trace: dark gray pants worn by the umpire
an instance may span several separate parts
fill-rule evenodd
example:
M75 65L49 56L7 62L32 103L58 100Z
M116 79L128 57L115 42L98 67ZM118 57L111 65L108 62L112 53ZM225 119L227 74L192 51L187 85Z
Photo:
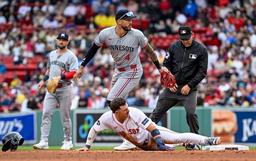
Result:
M162 119L164 114L181 102L186 110L186 119L191 133L199 134L198 117L196 114L196 100L197 100L197 85L191 88L188 95L180 93L182 85L178 85L177 92L172 93L169 88L165 88L159 95L156 108L153 110L149 118L156 124Z

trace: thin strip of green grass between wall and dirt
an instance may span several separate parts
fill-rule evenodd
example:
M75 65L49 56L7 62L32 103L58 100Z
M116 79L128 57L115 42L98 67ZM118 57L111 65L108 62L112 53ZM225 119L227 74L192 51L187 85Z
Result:
M78 148L82 148L82 147L78 147L78 146L74 146L72 148L72 150L74 149L78 149ZM0 149L2 149L2 146L0 146ZM114 146L92 146L90 148L90 150L113 150L114 149ZM175 150L185 150L184 147L176 147L174 148ZM256 149L256 146L249 146L249 149ZM28 146L28 145L25 145L25 146L19 146L18 147L18 150L34 150L32 145L31 146ZM60 150L60 146L49 146L49 150Z

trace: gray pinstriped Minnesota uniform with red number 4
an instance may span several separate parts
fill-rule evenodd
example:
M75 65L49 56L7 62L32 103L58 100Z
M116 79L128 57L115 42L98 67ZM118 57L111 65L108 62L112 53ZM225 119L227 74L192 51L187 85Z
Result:
M116 64L108 101L118 96L124 97L139 84L143 71L138 48L145 47L148 43L148 39L140 30L132 28L120 38L116 35L116 27L102 30L94 41L97 46L106 43Z

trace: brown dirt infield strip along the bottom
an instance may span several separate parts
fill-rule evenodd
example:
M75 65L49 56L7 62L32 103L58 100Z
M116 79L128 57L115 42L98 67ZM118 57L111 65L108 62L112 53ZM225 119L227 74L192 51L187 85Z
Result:
M50 160L50 161L254 161L256 150L174 150L174 151L64 151L64 150L18 150L0 152L1 161Z

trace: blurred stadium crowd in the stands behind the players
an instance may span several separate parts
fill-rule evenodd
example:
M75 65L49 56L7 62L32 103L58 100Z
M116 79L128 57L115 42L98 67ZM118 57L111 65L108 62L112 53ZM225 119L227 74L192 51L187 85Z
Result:
M120 9L138 16L132 26L145 34L160 63L178 40L180 25L192 26L194 39L209 53L197 105L256 107L255 0L0 0L0 112L42 109L46 88L38 90L37 83L58 32L69 34L68 49L80 65L98 33L116 25ZM139 53L144 74L126 100L130 106L155 108L163 90L160 76L146 53ZM114 69L103 46L75 83L71 109L106 107Z

